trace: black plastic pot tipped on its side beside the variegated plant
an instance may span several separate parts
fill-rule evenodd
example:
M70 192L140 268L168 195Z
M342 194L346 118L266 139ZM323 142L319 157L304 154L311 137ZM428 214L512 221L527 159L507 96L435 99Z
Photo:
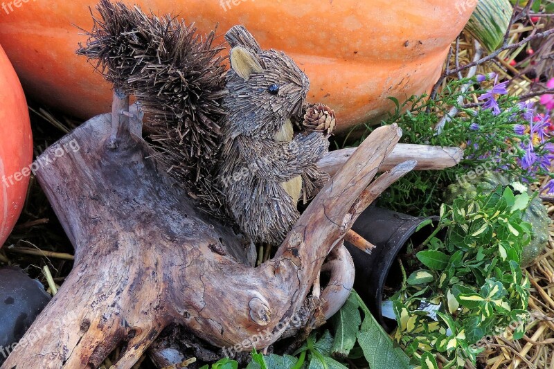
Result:
M397 290L402 284L402 272L396 262L397 255L413 244L425 241L433 231L431 225L416 229L427 219L436 217L411 217L392 210L370 206L360 215L352 229L376 246L368 255L345 242L356 268L354 288L368 305L373 316L391 332L396 322L382 315L384 287Z

